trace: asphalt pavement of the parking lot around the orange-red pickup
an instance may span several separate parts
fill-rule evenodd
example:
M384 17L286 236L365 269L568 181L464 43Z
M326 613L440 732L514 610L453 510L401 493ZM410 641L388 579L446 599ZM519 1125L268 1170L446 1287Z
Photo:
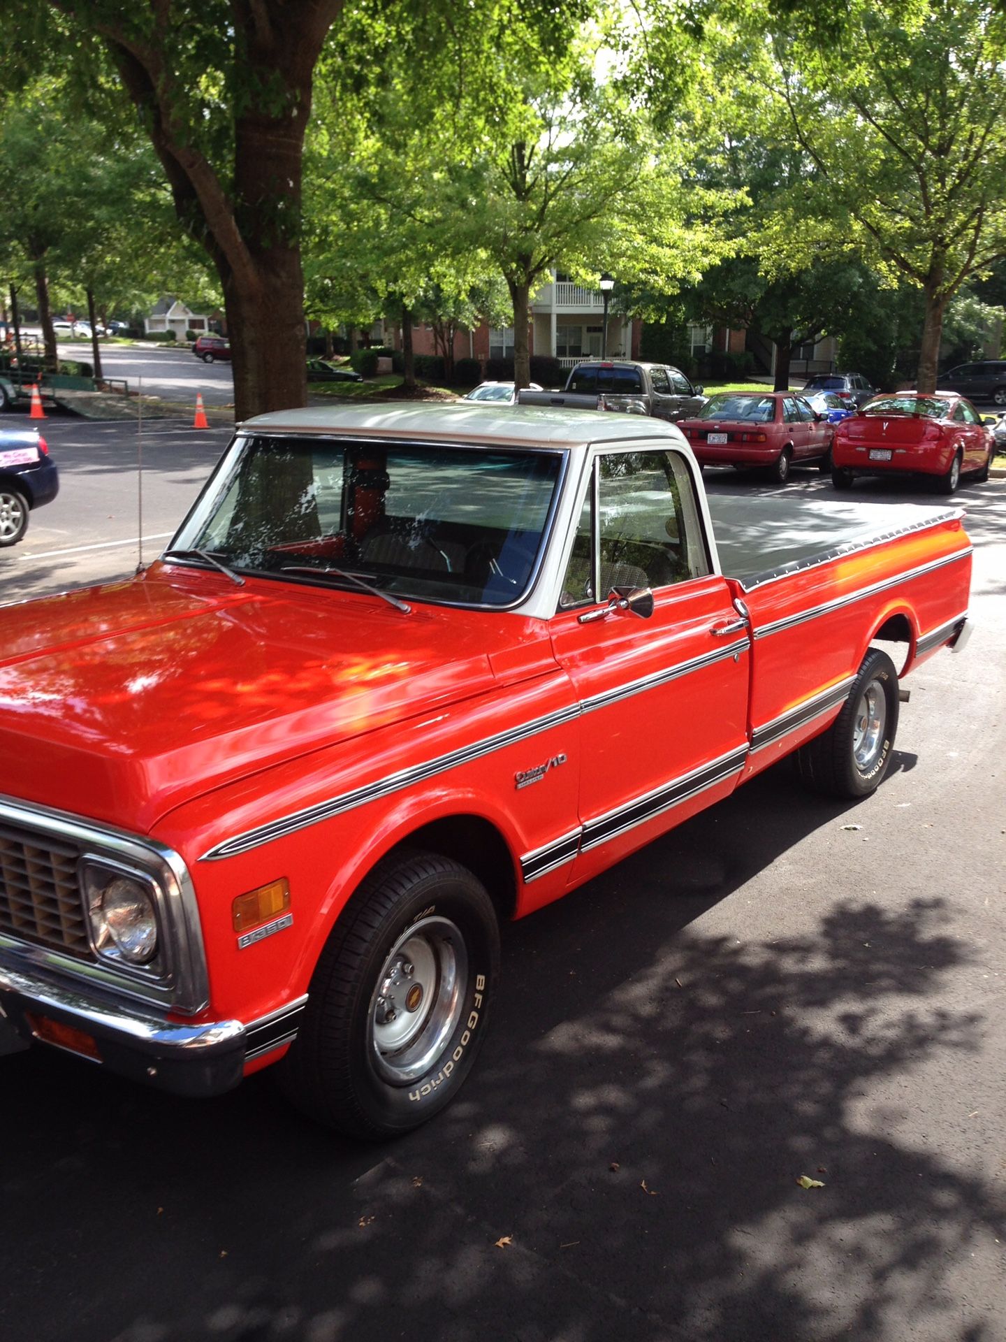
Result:
M130 530L129 443L50 432L63 494L4 597L11 565L19 590L80 576L50 525ZM152 527L215 446L150 447ZM268 1076L197 1103L5 1059L4 1342L1001 1342L1006 482L959 502L974 636L907 678L877 794L783 764L508 929L476 1072L428 1127L361 1147Z

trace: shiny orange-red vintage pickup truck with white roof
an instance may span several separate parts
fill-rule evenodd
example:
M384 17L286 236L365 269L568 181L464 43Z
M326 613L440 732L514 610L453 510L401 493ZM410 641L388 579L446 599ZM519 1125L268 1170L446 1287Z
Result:
M872 644L960 644L960 513L718 511L641 416L241 425L146 572L0 609L0 1049L188 1095L279 1064L401 1133L471 1070L500 922L790 752L872 792Z

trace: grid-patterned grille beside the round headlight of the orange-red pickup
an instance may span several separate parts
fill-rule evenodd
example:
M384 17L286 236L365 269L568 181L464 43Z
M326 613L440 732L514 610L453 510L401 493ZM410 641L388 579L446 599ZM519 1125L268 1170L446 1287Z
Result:
M0 933L90 956L76 863L80 849L0 824Z

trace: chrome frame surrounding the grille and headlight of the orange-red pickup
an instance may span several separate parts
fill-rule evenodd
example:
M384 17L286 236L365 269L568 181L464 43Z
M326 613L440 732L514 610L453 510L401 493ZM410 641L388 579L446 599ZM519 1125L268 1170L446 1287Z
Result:
M196 891L181 856L156 839L131 835L114 825L85 820L50 807L0 796L0 820L42 836L78 844L90 856L117 859L135 867L156 884L160 934L165 939L166 973L144 974L141 969L79 960L15 937L0 935L4 964L46 966L101 985L123 996L194 1015L209 1000L207 958ZM83 898L83 896L82 896Z

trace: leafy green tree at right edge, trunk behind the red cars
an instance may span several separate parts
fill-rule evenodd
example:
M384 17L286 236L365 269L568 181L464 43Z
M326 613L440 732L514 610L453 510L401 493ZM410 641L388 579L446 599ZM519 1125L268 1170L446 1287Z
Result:
M926 301L916 385L936 385L947 306L1006 256L1006 17L982 0L853 0L775 21L778 97L828 213Z

